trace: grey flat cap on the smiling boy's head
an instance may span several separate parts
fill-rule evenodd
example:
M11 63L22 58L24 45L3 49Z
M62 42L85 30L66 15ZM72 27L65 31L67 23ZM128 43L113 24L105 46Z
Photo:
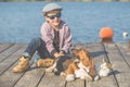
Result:
M62 10L62 7L60 7L56 3L49 3L49 4L43 7L42 13L46 14L46 13L53 11L53 10Z

